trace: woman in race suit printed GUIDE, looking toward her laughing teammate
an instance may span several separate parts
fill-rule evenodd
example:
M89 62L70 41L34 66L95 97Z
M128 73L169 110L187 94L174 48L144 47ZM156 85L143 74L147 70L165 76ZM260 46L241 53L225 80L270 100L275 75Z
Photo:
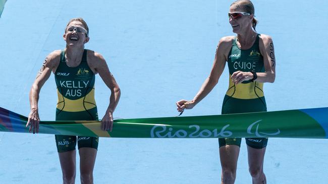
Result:
M240 0L230 6L229 23L237 36L223 37L218 43L212 70L191 101L177 102L178 111L192 109L218 82L226 63L229 87L224 97L222 114L266 111L263 83L274 82L276 60L270 36L258 34L251 1ZM241 122L242 123L242 122ZM266 183L263 159L267 138L246 138L249 172L253 183ZM234 183L240 138L219 138L222 183Z

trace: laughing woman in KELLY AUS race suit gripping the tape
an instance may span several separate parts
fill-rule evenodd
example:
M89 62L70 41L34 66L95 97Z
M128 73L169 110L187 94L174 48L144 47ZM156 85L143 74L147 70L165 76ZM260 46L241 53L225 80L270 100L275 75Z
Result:
M95 74L99 73L111 90L110 104L101 120L102 131L113 129L113 112L120 99L120 88L111 74L106 61L97 52L84 49L89 41L89 28L82 18L72 19L65 28L66 48L55 50L44 60L30 90L31 112L26 126L38 133L39 92L51 71L57 85L58 104L56 120L98 120L94 100ZM104 132L104 134L107 132ZM93 167L97 154L98 137L55 135L63 172L63 183L75 183L76 144L80 155L81 183L93 183Z

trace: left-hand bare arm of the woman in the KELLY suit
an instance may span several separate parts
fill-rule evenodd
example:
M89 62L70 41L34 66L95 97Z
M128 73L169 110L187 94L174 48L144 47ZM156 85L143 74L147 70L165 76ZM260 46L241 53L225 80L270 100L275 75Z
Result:
M29 127L29 132L33 130L34 133L39 132L39 113L38 113L38 100L39 100L39 93L41 87L43 86L44 82L49 78L51 74L51 70L56 65L56 60L58 60L59 54L58 51L54 51L50 53L43 61L43 64L36 75L36 79L34 80L31 90L30 90L30 107L31 112L28 116L28 122L26 127Z

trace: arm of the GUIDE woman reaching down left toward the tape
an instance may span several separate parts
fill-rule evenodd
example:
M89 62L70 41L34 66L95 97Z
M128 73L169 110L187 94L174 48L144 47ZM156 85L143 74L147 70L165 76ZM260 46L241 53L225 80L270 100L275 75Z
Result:
M184 109L192 109L196 104L198 104L203 98L205 98L210 91L214 88L217 84L218 79L220 78L223 70L225 69L226 65L226 51L227 48L231 45L231 38L224 37L220 40L217 45L217 49L215 52L214 63L212 66L212 70L209 76L205 79L202 86L200 87L198 93L191 101L180 100L176 103L177 109L179 112L183 111Z

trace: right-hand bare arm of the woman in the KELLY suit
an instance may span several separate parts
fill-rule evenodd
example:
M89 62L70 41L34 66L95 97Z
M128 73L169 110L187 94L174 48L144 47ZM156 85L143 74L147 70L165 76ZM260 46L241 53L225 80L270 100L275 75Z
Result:
M121 90L117 84L113 74L108 69L105 59L99 54L94 53L95 57L95 66L94 69L99 73L102 80L105 82L108 88L111 89L110 105L108 105L107 111L104 117L101 119L101 129L104 131L113 130L113 113L116 106L119 103Z

